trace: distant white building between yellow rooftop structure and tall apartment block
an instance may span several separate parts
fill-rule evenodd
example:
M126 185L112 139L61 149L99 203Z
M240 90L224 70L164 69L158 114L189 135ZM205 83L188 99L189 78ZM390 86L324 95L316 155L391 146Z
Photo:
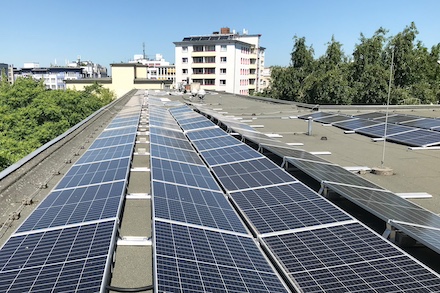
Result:
M147 78L154 80L171 80L173 84L176 82L176 69L174 65L170 65L165 61L161 54L156 54L154 59L148 59L145 55L134 55L129 63L138 63L148 67Z

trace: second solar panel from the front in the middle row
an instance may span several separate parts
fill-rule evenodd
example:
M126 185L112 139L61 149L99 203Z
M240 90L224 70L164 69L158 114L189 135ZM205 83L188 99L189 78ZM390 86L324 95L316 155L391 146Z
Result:
M154 217L247 234L223 193L153 181Z

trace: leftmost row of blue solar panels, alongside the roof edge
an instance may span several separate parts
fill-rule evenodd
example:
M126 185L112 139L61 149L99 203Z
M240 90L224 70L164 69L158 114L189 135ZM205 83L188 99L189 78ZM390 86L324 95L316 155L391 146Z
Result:
M141 105L135 97L0 250L1 292L104 292Z

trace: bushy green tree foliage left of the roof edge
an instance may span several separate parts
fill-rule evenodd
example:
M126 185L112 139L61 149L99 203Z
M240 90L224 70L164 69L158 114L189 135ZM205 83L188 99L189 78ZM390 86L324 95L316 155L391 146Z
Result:
M0 83L0 171L110 103L95 84L84 91L47 90L42 81Z

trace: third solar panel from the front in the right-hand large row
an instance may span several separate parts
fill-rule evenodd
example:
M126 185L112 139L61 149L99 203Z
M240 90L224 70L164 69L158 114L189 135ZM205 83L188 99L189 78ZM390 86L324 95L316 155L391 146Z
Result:
M296 181L267 158L214 166L212 170L229 191Z

